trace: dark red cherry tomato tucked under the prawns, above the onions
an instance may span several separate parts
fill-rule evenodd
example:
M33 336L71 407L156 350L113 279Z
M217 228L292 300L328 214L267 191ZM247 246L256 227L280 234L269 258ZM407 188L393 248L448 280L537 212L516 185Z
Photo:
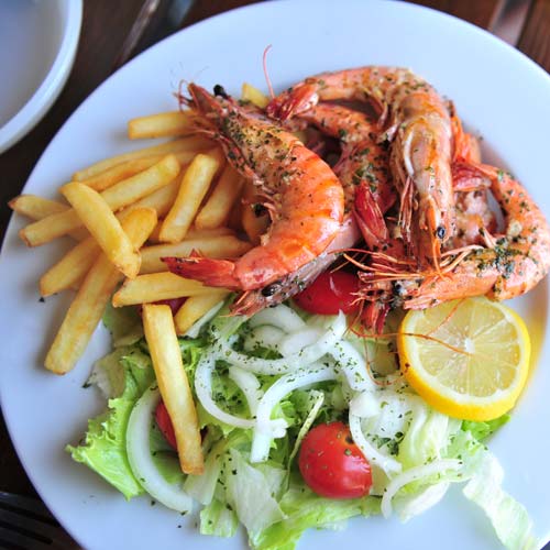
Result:
M306 289L297 294L296 304L310 314L350 314L358 309L353 302L359 290L359 279L351 273L338 271L321 273Z

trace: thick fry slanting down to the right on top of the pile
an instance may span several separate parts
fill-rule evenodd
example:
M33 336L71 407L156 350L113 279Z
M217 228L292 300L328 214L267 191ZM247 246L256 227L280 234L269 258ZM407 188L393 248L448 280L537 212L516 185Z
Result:
M127 277L134 278L140 273L141 256L101 195L78 182L63 186L62 193L107 257Z

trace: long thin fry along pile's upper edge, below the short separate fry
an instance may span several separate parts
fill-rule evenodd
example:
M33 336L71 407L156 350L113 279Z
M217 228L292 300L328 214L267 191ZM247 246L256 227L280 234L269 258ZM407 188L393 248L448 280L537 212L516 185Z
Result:
M205 151L212 146L212 142L207 140L206 138L191 135L189 138L180 138L178 140L173 140L166 143L161 143L160 145L153 145L151 147L140 148L138 151L130 151L129 153L124 153L122 155L112 156L111 158L106 158L105 161L100 161L99 163L92 164L85 169L75 172L73 174L73 179L75 182L81 182L82 179L89 179L101 172L105 172L118 164L122 164L127 161L133 161L135 158L143 158L146 156L155 156L155 155L168 155L176 154L183 152L198 152Z

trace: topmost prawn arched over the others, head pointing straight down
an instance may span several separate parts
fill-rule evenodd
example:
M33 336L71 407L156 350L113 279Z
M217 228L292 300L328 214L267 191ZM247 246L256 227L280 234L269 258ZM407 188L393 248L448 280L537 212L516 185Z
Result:
M392 143L405 242L421 265L437 265L454 231L452 124L446 102L410 70L370 66L307 78L272 100L267 113L285 120L330 100L367 100L377 110L382 139Z

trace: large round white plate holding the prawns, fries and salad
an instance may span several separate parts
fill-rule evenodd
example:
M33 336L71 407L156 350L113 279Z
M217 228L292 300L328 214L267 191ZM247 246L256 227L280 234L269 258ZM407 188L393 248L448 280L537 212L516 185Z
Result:
M127 121L175 107L180 79L239 92L243 80L263 87L262 54L277 89L327 69L366 64L404 65L455 101L460 116L484 138L488 158L506 160L550 212L548 136L550 79L539 67L475 26L411 4L378 1L265 2L199 23L135 58L75 112L51 143L26 193L53 196L69 175L99 158L125 151ZM36 280L61 248L25 250L11 222L0 267L3 334L1 398L15 448L38 493L87 549L240 549L245 539L201 537L194 519L148 498L131 503L64 453L102 402L82 389L92 361L108 350L98 330L77 369L58 378L42 361L68 298L38 302ZM548 282L517 300L534 339L534 373L512 421L491 442L506 470L505 488L525 503L537 535L550 538L550 342ZM538 367L537 365L540 365ZM439 506L406 525L358 518L342 532L308 532L301 549L499 548L482 513L455 488ZM182 528L178 528L182 526ZM355 544L355 546L351 546Z

